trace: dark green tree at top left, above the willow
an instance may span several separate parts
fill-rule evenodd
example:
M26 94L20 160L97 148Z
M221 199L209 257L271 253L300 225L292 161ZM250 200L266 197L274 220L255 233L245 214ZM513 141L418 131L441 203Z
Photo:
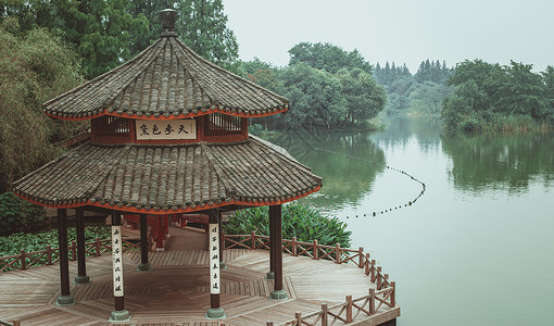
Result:
M3 16L15 16L22 32L46 27L74 45L88 78L116 67L135 53L133 40L148 34L144 15L133 17L129 0L14 0L3 5Z

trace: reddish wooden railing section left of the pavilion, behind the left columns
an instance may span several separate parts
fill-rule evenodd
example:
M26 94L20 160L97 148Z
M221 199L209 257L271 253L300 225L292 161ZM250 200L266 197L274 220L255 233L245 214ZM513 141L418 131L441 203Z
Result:
M151 248L151 239L149 238L149 248ZM140 249L140 241L131 241L123 239L124 250ZM100 256L112 251L112 240L96 238L92 242L85 243L86 255ZM71 261L77 260L77 244L72 241L67 246L67 258ZM7 255L0 258L0 272L8 272L13 269L24 271L35 266L52 265L60 261L60 249L47 247L46 250L25 252L22 250L20 254Z

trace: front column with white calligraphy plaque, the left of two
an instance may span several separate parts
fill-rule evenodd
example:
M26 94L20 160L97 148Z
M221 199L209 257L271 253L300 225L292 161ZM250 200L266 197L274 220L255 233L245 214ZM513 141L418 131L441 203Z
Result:
M125 310L123 292L123 243L122 243L122 214L112 212L112 273L113 273L113 296L114 311L109 322L129 321L129 312Z

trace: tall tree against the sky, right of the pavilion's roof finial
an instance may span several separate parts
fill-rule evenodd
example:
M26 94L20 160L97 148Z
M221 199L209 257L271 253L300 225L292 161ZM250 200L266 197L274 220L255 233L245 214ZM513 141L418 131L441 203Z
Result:
M239 74L239 45L227 28L222 0L181 0L177 11L181 40L204 59Z

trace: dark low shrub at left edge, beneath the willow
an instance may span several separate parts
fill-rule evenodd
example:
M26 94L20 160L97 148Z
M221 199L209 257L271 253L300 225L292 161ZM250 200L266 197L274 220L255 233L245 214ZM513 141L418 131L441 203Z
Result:
M41 206L22 200L13 192L0 193L0 235L38 230L45 221Z

